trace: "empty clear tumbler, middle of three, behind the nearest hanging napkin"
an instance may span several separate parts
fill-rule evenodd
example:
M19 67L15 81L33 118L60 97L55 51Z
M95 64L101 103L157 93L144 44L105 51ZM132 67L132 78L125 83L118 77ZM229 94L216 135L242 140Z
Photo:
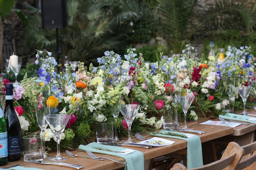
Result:
M96 123L96 138L97 138L97 143L113 142L114 140L113 122Z

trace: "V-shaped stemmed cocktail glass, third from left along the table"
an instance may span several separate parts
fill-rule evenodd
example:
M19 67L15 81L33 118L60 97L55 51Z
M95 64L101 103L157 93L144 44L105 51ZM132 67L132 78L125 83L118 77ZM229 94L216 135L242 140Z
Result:
M191 105L191 103L193 102L195 96L175 96L177 98L177 101L179 102L183 112L184 112L184 115L185 115L185 126L181 129L192 129L192 128L189 128L187 127L187 120L186 120L186 116L187 116L187 111Z

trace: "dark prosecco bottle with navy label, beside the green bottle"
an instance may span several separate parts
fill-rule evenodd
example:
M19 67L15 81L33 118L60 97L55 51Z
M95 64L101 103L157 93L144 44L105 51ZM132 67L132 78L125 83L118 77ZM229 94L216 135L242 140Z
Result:
M13 84L5 85L5 118L8 136L8 161L21 159L21 125L13 107Z

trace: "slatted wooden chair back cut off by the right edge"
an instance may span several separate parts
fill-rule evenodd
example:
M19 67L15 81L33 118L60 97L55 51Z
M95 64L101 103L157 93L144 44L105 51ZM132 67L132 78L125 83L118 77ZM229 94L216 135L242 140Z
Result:
M245 154L243 156L249 155L251 153L253 154L249 158L241 160L235 169L241 170L246 168L246 170L255 170L256 169L256 141L251 144L245 145L242 148L245 151Z

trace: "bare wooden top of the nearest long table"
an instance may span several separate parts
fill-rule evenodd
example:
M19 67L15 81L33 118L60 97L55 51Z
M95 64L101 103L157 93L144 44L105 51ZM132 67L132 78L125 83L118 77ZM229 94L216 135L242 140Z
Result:
M210 141L212 139L230 135L233 133L232 127L225 127L225 126L191 124L191 125L189 125L189 127L192 127L194 130L205 131L205 134L198 135L198 136L200 136L202 143L206 142L206 141ZM142 135L145 137L150 136L149 134L142 134ZM162 155L172 153L172 152L175 152L175 151L178 151L181 149L185 149L187 147L187 142L185 140L174 139L174 138L165 138L165 139L169 139L171 141L174 141L175 143L173 143L172 145L169 145L169 146L153 147L153 148L149 148L149 149L137 148L137 147L127 147L127 146L125 146L125 148L131 148L133 150L138 150L144 154L144 160L150 160L150 159L156 158L158 156L162 156ZM134 139L134 141L138 142L138 139ZM87 155L86 152L79 151L79 150L72 151L72 153ZM51 153L50 155L55 156L56 153L54 152L54 153ZM84 166L83 169L86 169L86 170L95 170L95 169L110 170L110 169L118 169L118 168L124 167L123 164L115 163L115 162L112 162L109 160L96 161L96 160L91 160L89 158L85 158L82 156L77 156L75 158L71 158L65 152L62 152L61 155L68 158L67 161L63 161L63 162L82 165L82 166ZM102 154L97 153L96 155L100 156ZM125 161L123 158L119 158L116 156L110 156L110 155L104 155L104 156L118 160L118 161ZM53 166L53 165L42 165L42 164L33 163L33 162L24 162L23 157L21 158L20 161L8 162L8 164L3 167L10 167L10 166L14 166L17 164L20 164L20 166L23 166L23 167L33 167L33 168L50 169L50 170L58 168L57 166ZM3 168L3 167L0 167L0 168ZM61 169L68 170L70 168L61 167Z

